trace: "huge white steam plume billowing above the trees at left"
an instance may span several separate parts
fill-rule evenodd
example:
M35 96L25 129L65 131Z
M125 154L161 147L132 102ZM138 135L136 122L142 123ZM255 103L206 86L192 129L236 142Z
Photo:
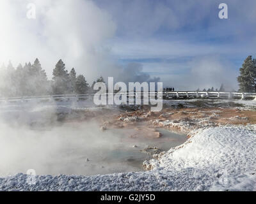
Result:
M36 5L35 20L26 17L28 3ZM38 57L49 78L58 59L63 59L88 82L100 75L124 82L159 80L143 73L141 66L116 63L108 46L116 24L93 1L3 0L0 15L0 62L11 59L16 66Z

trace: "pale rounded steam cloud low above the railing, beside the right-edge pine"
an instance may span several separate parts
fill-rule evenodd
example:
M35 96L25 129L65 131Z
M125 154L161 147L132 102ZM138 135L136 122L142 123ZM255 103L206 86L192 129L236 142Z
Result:
M237 89L238 71L233 64L219 55L198 57L186 62L187 69L183 73L165 73L160 75L165 86L179 90L195 91L196 89L219 89L221 84L226 90ZM152 74L153 75L153 74Z

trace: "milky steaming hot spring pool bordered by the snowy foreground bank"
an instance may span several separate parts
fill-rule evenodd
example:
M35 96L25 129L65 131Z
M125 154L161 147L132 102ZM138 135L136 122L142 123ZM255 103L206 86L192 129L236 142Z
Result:
M186 140L186 136L164 129L159 130L161 138L132 138L136 129L101 131L95 122L65 123L43 130L0 126L0 176L29 169L38 175L141 171L143 161L150 157L141 152L145 147L168 150Z

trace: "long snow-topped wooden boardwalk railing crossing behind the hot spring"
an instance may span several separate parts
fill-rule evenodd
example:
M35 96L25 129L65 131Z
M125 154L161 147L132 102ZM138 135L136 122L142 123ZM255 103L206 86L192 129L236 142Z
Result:
M125 94L125 93L123 93ZM143 92L127 93L127 98L134 96L134 98L143 97ZM108 95L108 94L106 94ZM33 101L33 99L40 99L41 101L63 101L67 100L83 100L93 97L94 94L63 94L63 95L48 95L48 96L24 96L19 98L0 98L2 101ZM217 92L217 91L172 91L172 92L149 92L149 97L158 97L163 99L193 99L193 98L204 98L204 99L255 99L256 92Z

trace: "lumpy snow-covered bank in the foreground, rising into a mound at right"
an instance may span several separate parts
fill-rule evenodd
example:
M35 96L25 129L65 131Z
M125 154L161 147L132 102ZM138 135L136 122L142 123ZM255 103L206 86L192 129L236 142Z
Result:
M256 126L198 130L159 160L153 170L111 175L0 178L4 191L256 191Z

